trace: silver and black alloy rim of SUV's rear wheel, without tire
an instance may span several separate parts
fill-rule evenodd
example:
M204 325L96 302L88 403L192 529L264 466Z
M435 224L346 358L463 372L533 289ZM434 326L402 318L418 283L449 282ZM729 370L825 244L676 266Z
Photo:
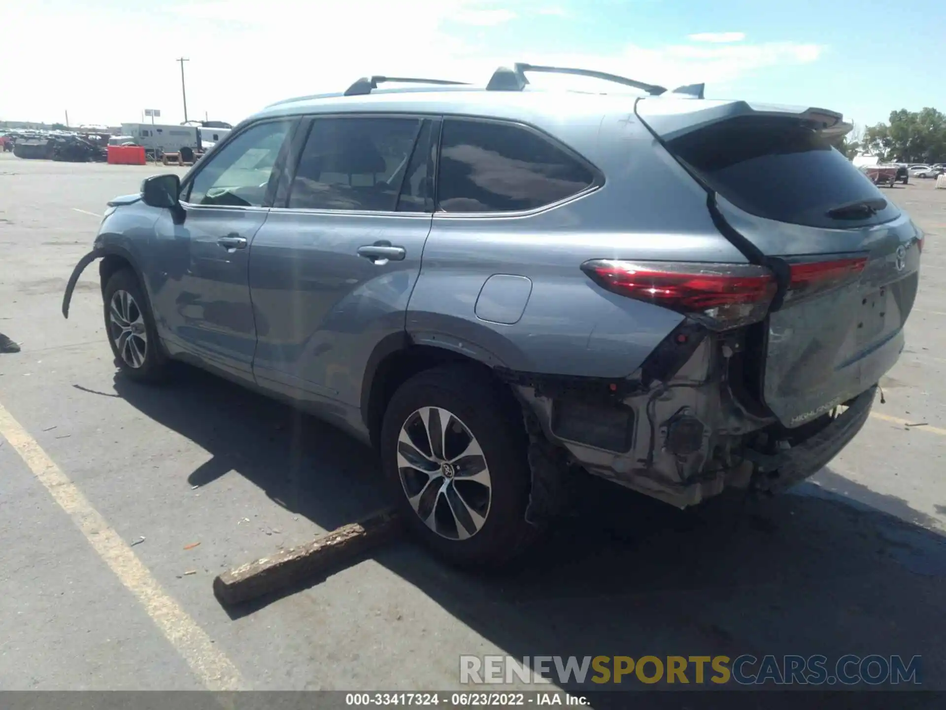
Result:
M430 530L467 540L489 516L492 482L480 443L440 407L415 411L401 427L397 469L413 511Z

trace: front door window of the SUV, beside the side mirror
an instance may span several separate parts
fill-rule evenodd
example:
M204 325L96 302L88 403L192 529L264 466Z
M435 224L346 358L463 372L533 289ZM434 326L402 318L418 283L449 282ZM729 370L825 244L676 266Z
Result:
M236 136L194 178L187 202L261 206L290 121L258 123Z

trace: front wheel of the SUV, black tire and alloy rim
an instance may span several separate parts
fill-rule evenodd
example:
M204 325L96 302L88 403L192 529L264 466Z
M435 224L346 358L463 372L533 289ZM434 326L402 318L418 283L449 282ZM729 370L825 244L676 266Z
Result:
M138 277L130 269L115 272L102 296L105 331L115 365L130 380L160 382L166 375L167 360Z

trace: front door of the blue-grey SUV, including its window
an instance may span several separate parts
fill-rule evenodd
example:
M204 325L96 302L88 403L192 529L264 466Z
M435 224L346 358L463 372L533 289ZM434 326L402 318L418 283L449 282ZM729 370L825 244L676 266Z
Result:
M267 121L236 135L184 185L184 219L167 212L156 225L166 276L156 311L166 340L246 379L253 378L256 345L250 245L266 222L290 126Z

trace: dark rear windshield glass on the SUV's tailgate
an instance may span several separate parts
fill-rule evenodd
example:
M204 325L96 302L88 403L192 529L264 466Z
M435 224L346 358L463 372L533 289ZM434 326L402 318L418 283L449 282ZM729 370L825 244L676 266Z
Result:
M741 116L674 138L668 148L729 202L770 220L843 228L900 214L887 201L867 218L830 216L842 205L884 200L884 193L795 120Z

